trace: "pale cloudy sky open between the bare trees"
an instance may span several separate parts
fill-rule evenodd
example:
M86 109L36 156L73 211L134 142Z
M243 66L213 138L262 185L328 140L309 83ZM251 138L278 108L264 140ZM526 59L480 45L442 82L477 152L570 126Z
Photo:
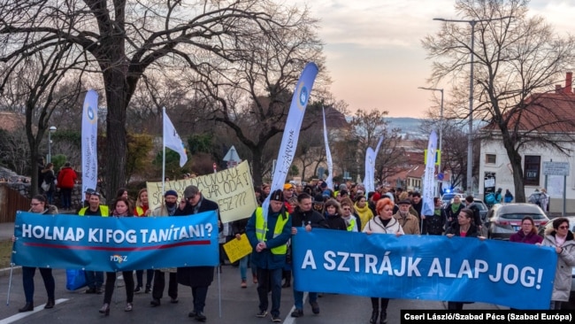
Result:
M338 100L346 101L351 111L378 108L391 117L425 117L433 91L418 87L429 86L432 62L421 40L439 31L441 22L433 18L456 18L455 0L295 3L307 3L321 20L319 35L326 44L331 91ZM532 0L529 6L530 14L544 16L563 35L575 19L575 0Z

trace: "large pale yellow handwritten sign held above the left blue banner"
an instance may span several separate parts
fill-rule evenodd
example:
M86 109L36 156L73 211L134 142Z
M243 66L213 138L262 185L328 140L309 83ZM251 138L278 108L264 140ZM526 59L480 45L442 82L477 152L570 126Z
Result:
M247 219L257 208L256 193L247 161L214 174L167 181L164 190L175 190L181 200L184 189L189 185L196 186L203 197L219 204L219 214L223 223ZM162 182L146 182L146 187L149 208L153 211L164 199Z

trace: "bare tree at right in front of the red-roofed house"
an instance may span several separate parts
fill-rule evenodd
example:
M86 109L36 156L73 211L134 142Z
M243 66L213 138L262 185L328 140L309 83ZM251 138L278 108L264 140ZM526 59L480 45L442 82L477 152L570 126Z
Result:
M533 110L537 104L530 96L553 90L559 75L573 62L575 42L571 36L557 35L543 18L529 18L528 3L456 1L459 18L475 20L473 117L490 124L483 135L502 141L512 167L517 202L525 202L520 151L526 145L543 145L568 153L572 133L558 138L544 130L564 132L575 126L560 117L564 112L549 106ZM437 35L428 35L422 42L429 58L437 59L430 83L451 82L455 107L465 107L469 96L465 84L470 78L471 31L470 24L446 22ZM469 111L459 108L456 115L466 119Z

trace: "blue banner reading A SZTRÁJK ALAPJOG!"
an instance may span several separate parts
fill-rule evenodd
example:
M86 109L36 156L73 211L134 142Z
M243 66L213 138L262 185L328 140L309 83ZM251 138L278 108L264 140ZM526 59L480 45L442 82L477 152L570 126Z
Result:
M525 243L314 228L292 238L295 289L548 309L557 256Z

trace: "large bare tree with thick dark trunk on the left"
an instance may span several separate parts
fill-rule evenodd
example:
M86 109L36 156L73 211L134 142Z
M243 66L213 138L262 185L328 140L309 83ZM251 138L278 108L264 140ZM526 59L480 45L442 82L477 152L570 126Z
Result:
M106 135L113 139L105 154L111 197L125 183L126 109L144 73L188 68L208 75L219 69L210 58L237 61L246 55L242 44L299 30L296 16L268 0L6 0L0 4L0 62L61 44L92 61L88 70L101 73Z

